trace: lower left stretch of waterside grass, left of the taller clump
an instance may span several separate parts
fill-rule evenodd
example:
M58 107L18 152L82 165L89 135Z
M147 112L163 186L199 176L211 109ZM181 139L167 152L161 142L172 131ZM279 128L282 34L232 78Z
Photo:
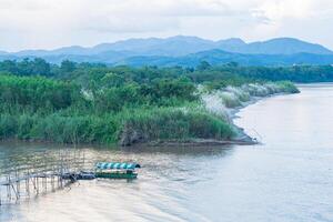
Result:
M112 143L115 138L114 118L82 115L62 117L1 114L0 138L58 143Z

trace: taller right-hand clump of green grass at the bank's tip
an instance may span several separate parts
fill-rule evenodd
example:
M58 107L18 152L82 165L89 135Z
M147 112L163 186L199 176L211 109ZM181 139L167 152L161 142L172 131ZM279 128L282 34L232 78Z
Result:
M202 109L153 108L127 112L123 117L121 142L137 140L225 140L234 131L223 119Z

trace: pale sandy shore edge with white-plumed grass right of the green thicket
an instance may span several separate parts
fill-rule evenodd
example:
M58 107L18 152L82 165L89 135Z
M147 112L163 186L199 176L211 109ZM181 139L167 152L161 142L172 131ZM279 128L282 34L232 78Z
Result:
M236 113L259 100L281 94L300 93L300 90L291 82L250 83L241 87L226 87L202 95L208 110L223 115L235 130L236 135L230 141L209 141L209 144L258 144L256 138L249 137L244 129L234 124ZM202 141L205 143L205 141ZM200 142L199 142L200 143Z

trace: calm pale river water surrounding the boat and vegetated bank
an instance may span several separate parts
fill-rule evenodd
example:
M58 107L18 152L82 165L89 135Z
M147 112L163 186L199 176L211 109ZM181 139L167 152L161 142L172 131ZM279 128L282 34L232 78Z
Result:
M0 221L333 221L333 85L300 88L240 111L236 124L263 144L84 148L93 160L141 163L139 179L82 181L3 205ZM2 143L0 159L59 149Z

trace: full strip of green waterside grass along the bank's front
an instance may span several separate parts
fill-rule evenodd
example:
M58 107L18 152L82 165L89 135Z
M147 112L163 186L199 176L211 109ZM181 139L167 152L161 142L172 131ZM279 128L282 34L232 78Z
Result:
M232 127L223 119L204 110L181 108L153 107L102 117L0 115L1 139L129 145L152 140L222 140L233 134Z

